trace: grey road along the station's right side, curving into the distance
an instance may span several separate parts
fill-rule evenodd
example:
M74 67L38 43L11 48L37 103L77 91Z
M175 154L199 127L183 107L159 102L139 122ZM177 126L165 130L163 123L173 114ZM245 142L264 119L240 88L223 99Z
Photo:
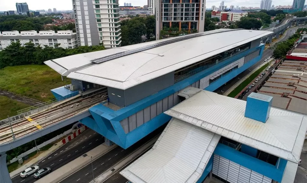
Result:
M289 28L285 33L284 36L280 39L278 39L277 41L275 41L274 43L271 44L271 46L273 46L274 44L281 42L281 41L285 41L286 39L288 39L291 35L293 35L295 33L295 31L298 28L302 28L302 27L306 27L306 26L299 26L299 27L293 27L293 28ZM292 30L292 31L291 31ZM286 34L286 35L285 35ZM214 92L223 95L224 92L226 92L227 90L229 90L233 85L235 85L237 82L239 82L239 80L241 80L241 78L245 77L247 74L249 74L252 70L256 69L257 67L259 67L260 64L262 64L264 62L264 59L268 58L269 56L271 56L273 54L274 49L266 49L263 51L262 54L262 58L259 62L257 62L256 64L254 64L253 66L251 66L249 69L243 71L241 74L239 74L237 77L233 78L232 80L228 81L226 84L224 84L223 86L221 86L220 88L216 89Z

